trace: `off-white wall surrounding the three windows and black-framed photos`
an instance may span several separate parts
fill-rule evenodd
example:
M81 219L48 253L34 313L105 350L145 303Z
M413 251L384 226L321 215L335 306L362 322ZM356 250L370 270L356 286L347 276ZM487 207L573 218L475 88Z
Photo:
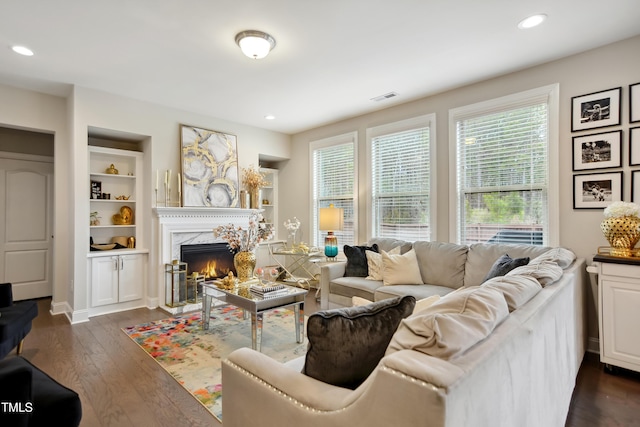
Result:
M360 165L360 183L365 183L365 137L368 127L390 123L422 114L436 114L436 181L437 181L437 218L435 240L449 241L450 221L455 215L449 210L449 110L488 99L498 98L528 89L560 84L560 129L559 129L559 193L560 193L560 245L570 248L579 257L591 262L599 246L607 241L600 232L602 210L573 209L572 171L572 133L571 133L571 97L589 94L600 90L622 86L622 125L612 130L622 129L624 136L623 165L617 170L624 171L624 200L631 200L631 168L629 162L628 128L629 85L640 81L640 37L614 43L579 55L559 59L554 62L508 74L502 77L479 82L445 93L426 97L417 101L390 107L375 113L366 114L339 123L322 126L293 135L292 160L280 172L280 217L297 216L302 219L303 232L311 236L308 230L311 223L311 199L309 197L309 150L311 141L328 138L346 132L358 132L358 163ZM638 125L637 123L635 125ZM597 132L599 130L594 130ZM586 134L590 132L581 132ZM597 171L596 171L597 172ZM294 179L295 178L295 179ZM367 189L360 187L358 201L359 224L365 224L365 197ZM301 195L306 194L305 201ZM295 195L295 196L293 196ZM358 241L365 241L366 230L361 227ZM307 237L308 238L308 237ZM585 284L587 286L587 284ZM590 336L597 336L595 304L589 290Z

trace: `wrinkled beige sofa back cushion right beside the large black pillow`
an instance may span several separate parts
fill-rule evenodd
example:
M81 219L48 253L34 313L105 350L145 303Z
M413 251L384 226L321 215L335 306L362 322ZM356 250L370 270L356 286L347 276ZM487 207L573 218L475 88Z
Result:
M480 286L458 289L402 320L385 355L411 349L455 358L486 338L508 315L500 291Z

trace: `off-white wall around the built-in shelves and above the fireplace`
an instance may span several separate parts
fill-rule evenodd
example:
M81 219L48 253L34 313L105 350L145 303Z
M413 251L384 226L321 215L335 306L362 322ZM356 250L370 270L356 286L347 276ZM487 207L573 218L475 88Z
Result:
M261 155L290 157L288 135L192 114L104 92L74 87L68 98L0 85L0 125L54 134L55 217L52 311L72 321L86 320L89 244L88 129L98 127L145 140L145 247L150 250L149 291L157 295L157 223L152 208L156 169L180 171L180 124L231 133L238 138L241 168L258 165ZM72 283L73 289L72 289Z

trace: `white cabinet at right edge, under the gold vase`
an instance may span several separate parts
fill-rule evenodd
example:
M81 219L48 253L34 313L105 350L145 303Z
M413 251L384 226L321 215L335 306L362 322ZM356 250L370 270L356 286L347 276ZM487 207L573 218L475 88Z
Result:
M597 255L600 361L640 372L640 261Z

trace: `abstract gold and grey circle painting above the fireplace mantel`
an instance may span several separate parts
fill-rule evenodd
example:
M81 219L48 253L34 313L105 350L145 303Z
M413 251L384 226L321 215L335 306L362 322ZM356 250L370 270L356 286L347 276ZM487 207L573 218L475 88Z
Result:
M238 207L236 135L180 125L182 206Z

